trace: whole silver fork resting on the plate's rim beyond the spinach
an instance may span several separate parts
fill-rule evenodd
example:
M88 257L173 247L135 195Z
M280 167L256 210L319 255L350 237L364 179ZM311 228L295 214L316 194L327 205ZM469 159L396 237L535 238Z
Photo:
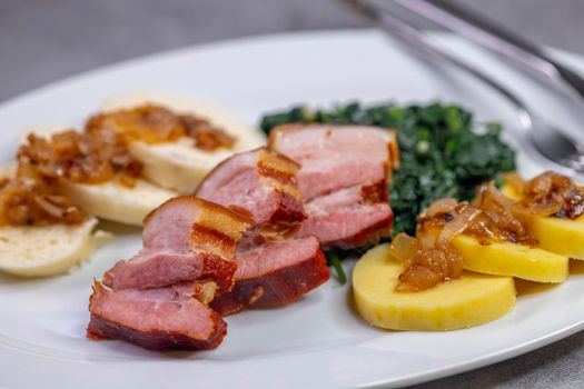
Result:
M396 19L379 6L367 0L342 1L352 6L369 20L375 21L384 31L408 43L408 48L424 53L434 61L442 61L464 70L504 96L516 109L518 121L524 130L526 140L529 142L527 151L531 153L531 157L538 157L531 152L536 150L540 156L545 157L554 166L555 170L584 178L584 176L581 176L584 174L584 147L565 136L543 118L534 114L514 92L477 68L433 46L420 31Z

